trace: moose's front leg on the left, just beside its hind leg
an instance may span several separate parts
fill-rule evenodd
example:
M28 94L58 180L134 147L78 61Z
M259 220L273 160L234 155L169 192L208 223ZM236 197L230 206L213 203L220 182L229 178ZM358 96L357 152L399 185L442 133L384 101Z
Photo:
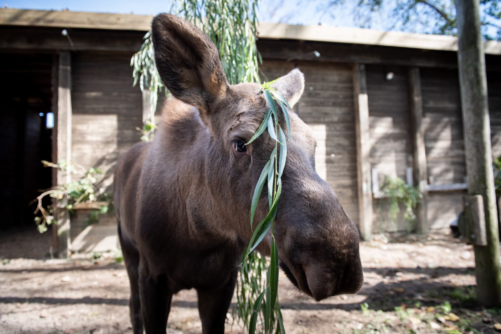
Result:
M146 334L165 333L172 300L166 275L150 275L140 266L139 297Z

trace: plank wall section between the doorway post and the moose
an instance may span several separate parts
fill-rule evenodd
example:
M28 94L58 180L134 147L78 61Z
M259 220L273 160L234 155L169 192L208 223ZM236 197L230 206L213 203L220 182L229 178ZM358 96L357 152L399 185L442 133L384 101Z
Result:
M142 94L132 87L127 53L76 53L73 57L73 159L105 173L112 182L114 166L139 141Z

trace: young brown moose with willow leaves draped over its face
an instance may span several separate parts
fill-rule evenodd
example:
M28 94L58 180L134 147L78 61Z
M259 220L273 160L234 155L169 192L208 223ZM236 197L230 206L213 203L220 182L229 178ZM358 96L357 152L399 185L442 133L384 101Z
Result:
M267 105L258 84L228 85L216 48L189 23L158 15L152 37L158 71L174 98L164 106L154 141L134 145L115 172L133 329L164 333L172 294L195 288L203 333L223 333L241 254L252 236L254 187L274 147L268 135L244 143ZM294 70L273 87L293 106L304 76ZM312 131L289 115L292 138L274 233L280 265L316 300L354 293L363 281L358 231L315 172ZM263 199L255 225L267 212ZM258 250L269 255L269 248L265 239Z

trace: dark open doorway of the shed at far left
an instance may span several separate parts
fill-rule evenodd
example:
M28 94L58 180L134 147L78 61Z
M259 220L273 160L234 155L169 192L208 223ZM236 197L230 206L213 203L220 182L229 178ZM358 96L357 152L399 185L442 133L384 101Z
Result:
M52 186L54 107L51 54L1 53L0 175L3 177L0 228L33 224L33 200ZM48 198L47 200L50 201ZM30 204L31 203L31 204Z

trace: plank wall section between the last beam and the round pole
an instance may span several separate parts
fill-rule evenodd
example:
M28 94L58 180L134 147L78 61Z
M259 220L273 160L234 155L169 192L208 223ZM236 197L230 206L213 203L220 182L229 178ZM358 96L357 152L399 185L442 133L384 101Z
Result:
M423 124L428 183L464 183L461 97L456 69L421 69ZM431 229L446 228L462 211L464 191L430 192L428 222Z

